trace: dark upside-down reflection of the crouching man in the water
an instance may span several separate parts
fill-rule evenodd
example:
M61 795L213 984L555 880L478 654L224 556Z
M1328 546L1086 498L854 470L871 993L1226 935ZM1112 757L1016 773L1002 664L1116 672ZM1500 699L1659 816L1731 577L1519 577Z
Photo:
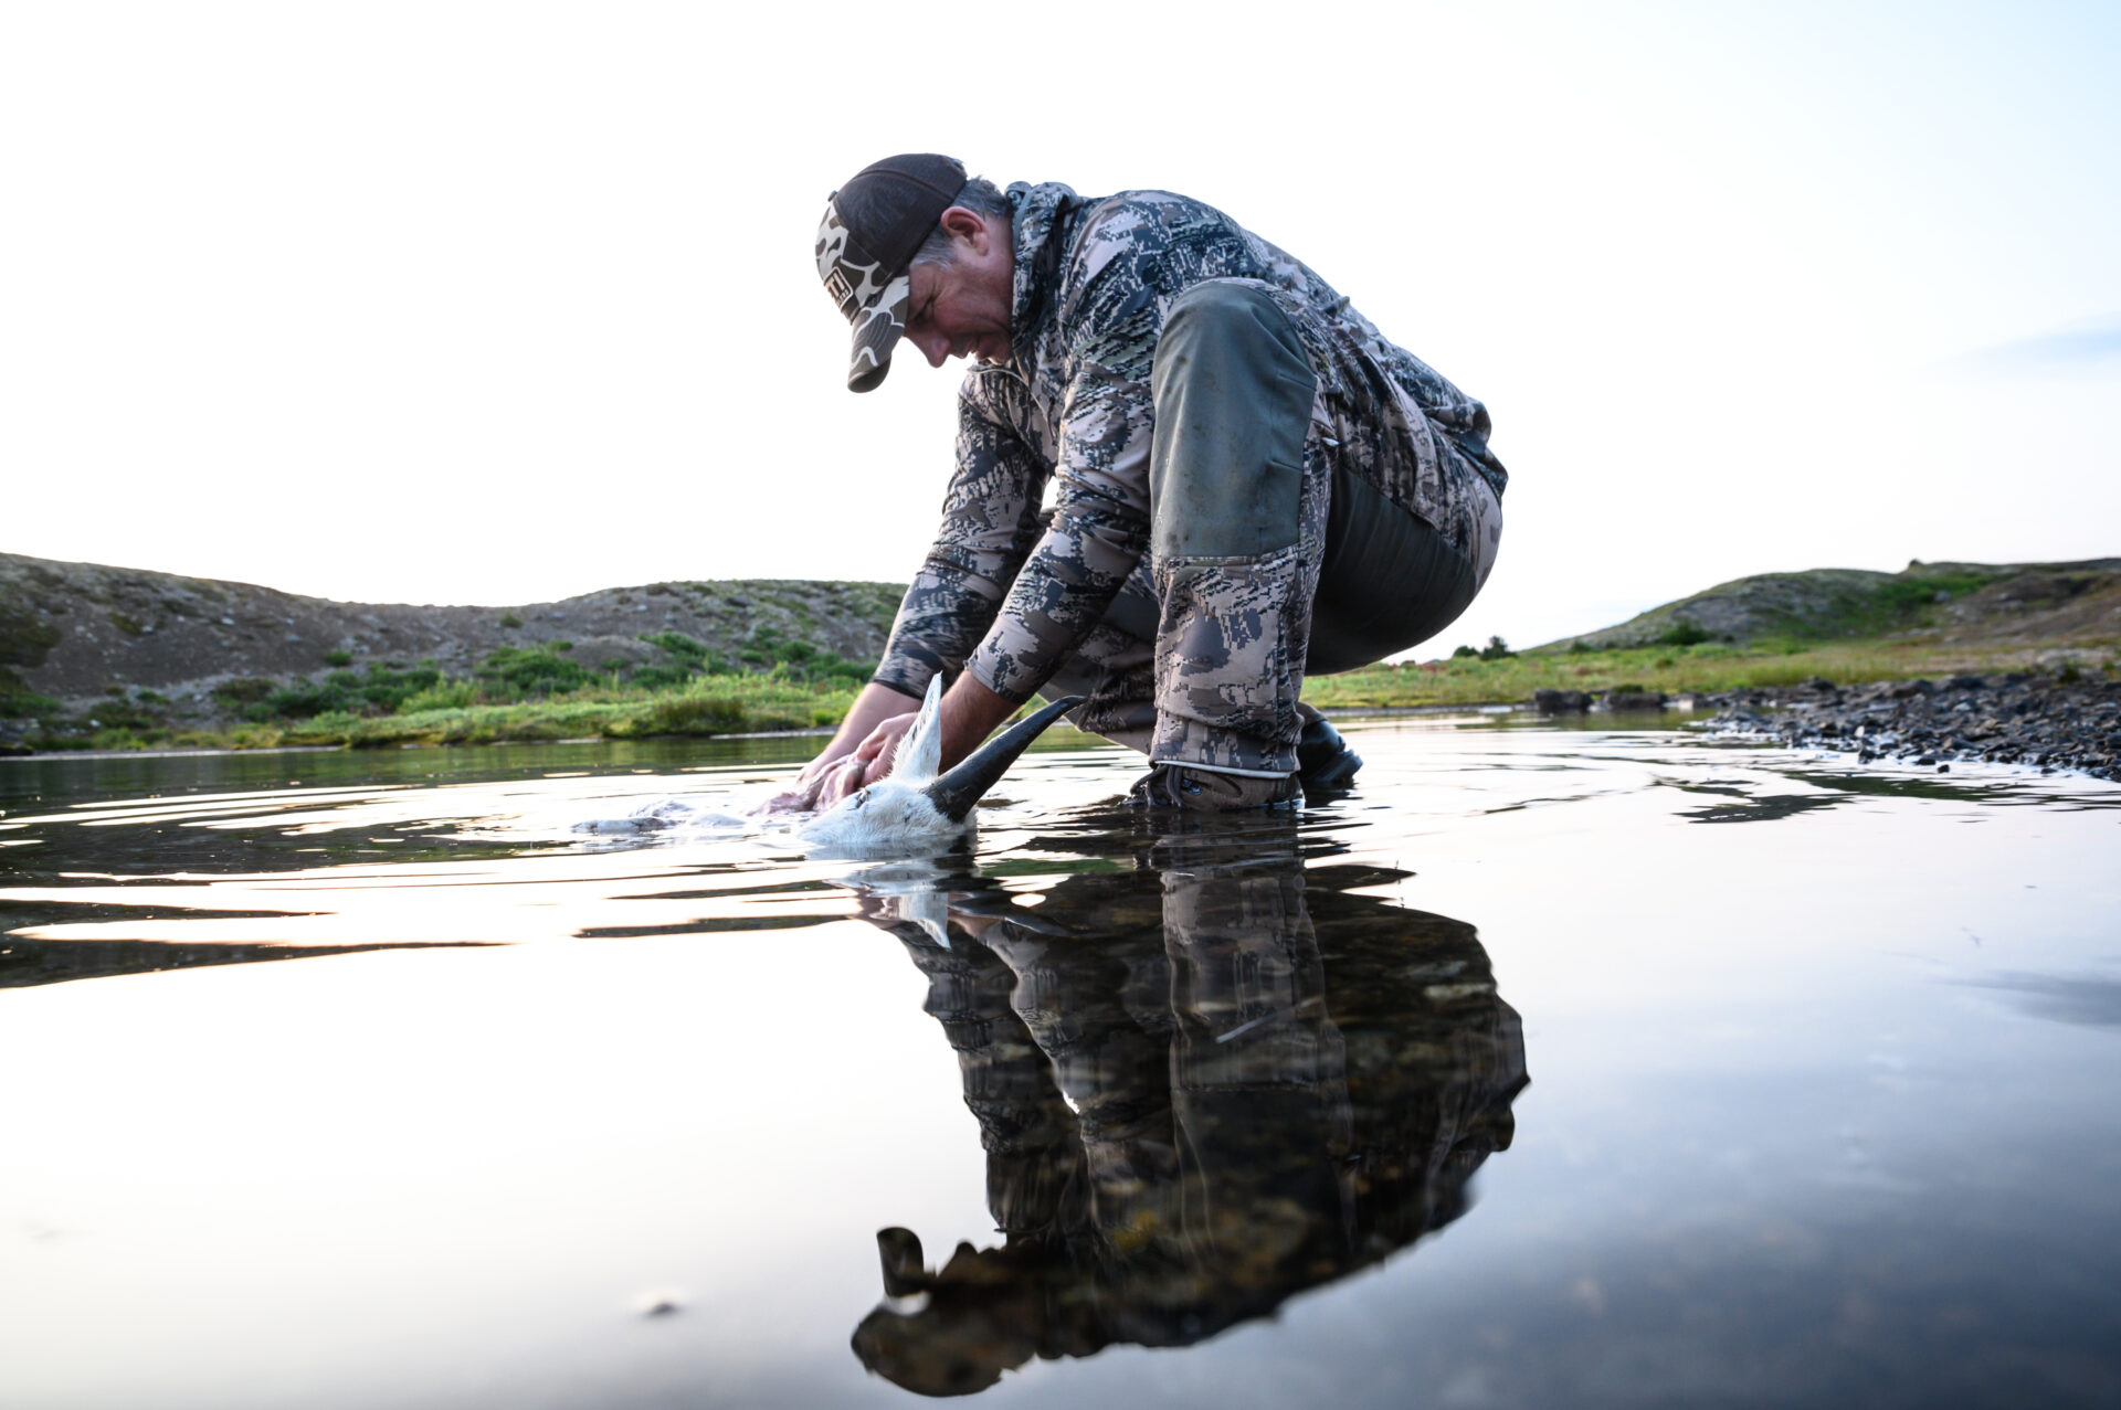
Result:
M1330 888L1391 874L1307 888L1287 831L1184 848L957 910L950 948L874 916L929 975L1005 1240L931 1272L878 1234L870 1370L965 1395L1031 1357L1198 1342L1453 1221L1510 1145L1523 1035L1472 927Z

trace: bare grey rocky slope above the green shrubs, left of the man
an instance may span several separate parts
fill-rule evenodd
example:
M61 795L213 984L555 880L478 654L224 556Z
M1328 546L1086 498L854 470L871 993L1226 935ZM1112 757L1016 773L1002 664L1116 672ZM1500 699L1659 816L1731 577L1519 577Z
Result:
M520 606L303 598L250 583L0 553L0 691L83 700L151 689L197 695L231 678L286 678L369 662L469 674L501 647L568 642L590 670L664 659L674 632L732 666L789 647L882 655L901 587L800 579L670 581Z

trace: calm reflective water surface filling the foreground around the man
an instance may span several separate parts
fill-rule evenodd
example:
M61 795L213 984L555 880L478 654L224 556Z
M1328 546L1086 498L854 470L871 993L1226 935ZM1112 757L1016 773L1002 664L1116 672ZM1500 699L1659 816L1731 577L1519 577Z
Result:
M1351 740L884 865L575 831L810 740L6 761L0 1404L2121 1397L2121 787Z

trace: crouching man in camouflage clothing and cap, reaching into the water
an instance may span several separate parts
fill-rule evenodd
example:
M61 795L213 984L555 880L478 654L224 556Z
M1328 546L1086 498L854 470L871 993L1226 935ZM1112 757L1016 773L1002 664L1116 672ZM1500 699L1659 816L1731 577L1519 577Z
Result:
M831 195L817 261L848 388L901 339L971 369L942 530L806 801L882 778L935 672L946 768L1044 691L1150 757L1143 806L1347 785L1362 761L1302 678L1434 636L1487 581L1508 475L1478 401L1167 191L1001 193L889 157Z

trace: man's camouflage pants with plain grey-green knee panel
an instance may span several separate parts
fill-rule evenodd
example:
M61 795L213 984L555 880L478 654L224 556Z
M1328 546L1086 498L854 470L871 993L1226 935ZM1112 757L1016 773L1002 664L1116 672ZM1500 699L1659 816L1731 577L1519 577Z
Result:
M1150 390L1150 553L1041 693L1088 695L1075 723L1156 763L1279 778L1296 770L1307 668L1347 670L1442 630L1485 564L1336 473L1317 377L1262 286L1209 280L1179 295ZM1360 530L1343 530L1351 513ZM1364 541L1364 562L1330 570L1336 530ZM1321 598L1321 572L1343 589L1328 583ZM1377 598L1387 621L1366 613L1321 632L1319 659L1313 602Z

